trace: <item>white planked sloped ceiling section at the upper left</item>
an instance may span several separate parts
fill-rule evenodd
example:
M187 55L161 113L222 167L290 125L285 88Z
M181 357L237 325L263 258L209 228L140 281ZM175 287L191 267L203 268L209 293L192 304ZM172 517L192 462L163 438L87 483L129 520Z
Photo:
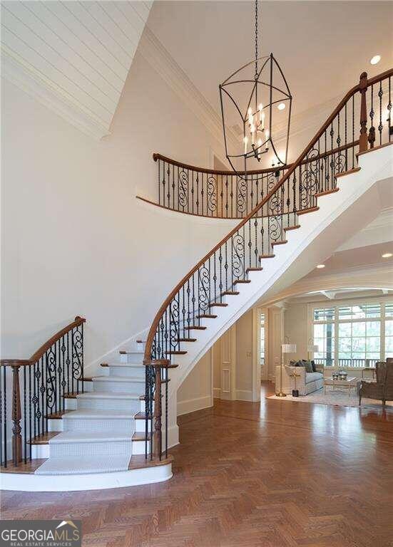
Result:
M2 1L6 78L94 137L109 127L150 1Z

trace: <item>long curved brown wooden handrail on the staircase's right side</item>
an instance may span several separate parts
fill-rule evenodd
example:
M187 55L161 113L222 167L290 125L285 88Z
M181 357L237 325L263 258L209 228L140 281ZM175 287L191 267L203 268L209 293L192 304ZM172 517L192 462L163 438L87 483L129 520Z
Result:
M325 130L327 130L327 128L330 126L330 124L332 123L333 120L335 120L335 117L337 116L337 114L340 112L340 110L342 110L342 108L344 107L345 103L347 103L347 101L349 100L349 98L352 97L352 95L354 95L355 93L357 93L358 91L361 91L364 89L364 85L367 87L367 85L372 85L374 83L378 83L379 81L382 81L384 80L385 78L388 78L389 76L392 76L393 75L393 68L389 69L388 71L385 71L384 73L381 73L379 75L376 75L374 76L373 78L370 78L369 80L367 79L367 73L362 73L360 75L360 80L359 80L359 83L357 83L357 85L354 85L353 88L351 88L345 95L344 95L344 98L342 98L342 100L340 100L340 103L338 103L337 107L335 108L335 110L333 110L332 114L329 116L329 118L327 118L327 120L325 121L325 123L322 125L322 127L320 128L319 131L317 131L316 135L314 137L312 137L312 140L310 140L310 142L308 143L308 145L305 147L305 149L302 151L302 153L300 154L300 156L297 158L297 160L292 163L292 165L289 167L289 169L287 170L287 172L285 173L285 175L277 182L277 184L275 184L274 187L272 187L272 189L270 190L270 192L268 192L268 194L265 196L264 199L262 199L262 202L260 202L259 204L257 204L256 207L254 207L254 209L252 209L252 211L247 214L247 217L244 217L243 220L241 220L239 222L239 224L237 224L235 226L235 228L233 228L229 234L227 234L223 239L221 239L221 241L218 242L217 245L215 245L213 247L213 249L211 249L211 251L208 252L208 254L206 254L203 259L201 259L197 264L195 264L195 266L193 267L193 269L191 269L184 277L183 279L181 279L179 281L179 283L175 286L175 288L173 288L172 291L170 291L169 295L167 296L167 298L165 298L165 301L163 302L163 304L160 306L160 309L158 310L158 312L155 314L155 318L153 320L153 323L150 327L150 330L149 330L149 333L148 333L148 338L146 340L146 348L145 348L145 355L144 355L144 359L145 359L145 362L146 363L154 363L154 360L151 360L151 350L152 350L152 346L153 346L153 340L154 340L154 337L155 337L155 331L157 330L157 327L158 327L158 324L160 323L160 320L161 318L163 317L163 314L165 313L165 310L168 308L168 306L170 305L170 302L172 301L173 297L176 295L176 293L178 293L178 291L180 290L180 288L193 276L193 274L195 273L195 271L197 271L200 266L203 266L203 264L205 264L205 262L211 257L213 256L213 254L215 253L215 251L218 251L218 249L220 249L220 247L225 244L225 241L228 241L228 239L230 239L231 236L233 236L234 234L236 234L236 232L238 232L238 230L244 226L246 224L246 222L248 222L250 219L252 219L252 217L254 217L254 215L263 207L263 205L265 205L265 203L272 197L273 194L275 194L275 192L277 192L277 189L279 189L280 187L282 187L282 184L284 184L284 182L291 176L291 174L295 171L295 169L302 164L303 160L305 159L305 156L307 156L308 152L310 152L310 150L312 150L312 147L315 145L315 142L317 142L320 137L324 134ZM158 158L158 155L156 155L157 158ZM181 164L180 164L181 165Z

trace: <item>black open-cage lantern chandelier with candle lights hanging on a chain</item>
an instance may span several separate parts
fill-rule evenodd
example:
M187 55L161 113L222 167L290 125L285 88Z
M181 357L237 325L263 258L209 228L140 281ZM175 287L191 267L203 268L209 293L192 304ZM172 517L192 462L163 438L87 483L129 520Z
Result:
M287 164L292 95L272 53L258 58L258 2L255 0L255 60L219 85L225 155L233 170ZM242 137L230 139L228 127ZM270 153L269 153L270 152ZM241 172L244 172L241 173Z

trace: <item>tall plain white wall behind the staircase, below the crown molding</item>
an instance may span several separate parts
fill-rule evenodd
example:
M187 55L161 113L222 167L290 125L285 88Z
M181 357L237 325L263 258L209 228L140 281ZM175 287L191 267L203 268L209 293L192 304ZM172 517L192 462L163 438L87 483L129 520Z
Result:
M221 143L138 53L101 142L5 80L2 115L1 356L28 358L81 314L91 363L148 328L233 225L138 202L137 187L156 195L152 153L208 165Z

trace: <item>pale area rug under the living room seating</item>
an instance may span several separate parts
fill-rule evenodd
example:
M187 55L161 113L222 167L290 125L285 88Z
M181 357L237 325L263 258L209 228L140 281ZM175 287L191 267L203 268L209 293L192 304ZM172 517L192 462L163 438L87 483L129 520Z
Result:
M277 401L295 401L295 402L318 402L322 405L337 405L339 407L359 407L359 397L355 393L351 393L348 397L347 390L330 390L324 393L323 387L321 390L309 393L308 395L303 395L302 397L292 397L292 395L287 395L287 397L277 397L277 395L270 395L267 399L275 399ZM375 401L372 399L362 398L362 408L363 407L372 407L382 409L382 402ZM390 410L393 410L393 401L387 401L385 407Z

